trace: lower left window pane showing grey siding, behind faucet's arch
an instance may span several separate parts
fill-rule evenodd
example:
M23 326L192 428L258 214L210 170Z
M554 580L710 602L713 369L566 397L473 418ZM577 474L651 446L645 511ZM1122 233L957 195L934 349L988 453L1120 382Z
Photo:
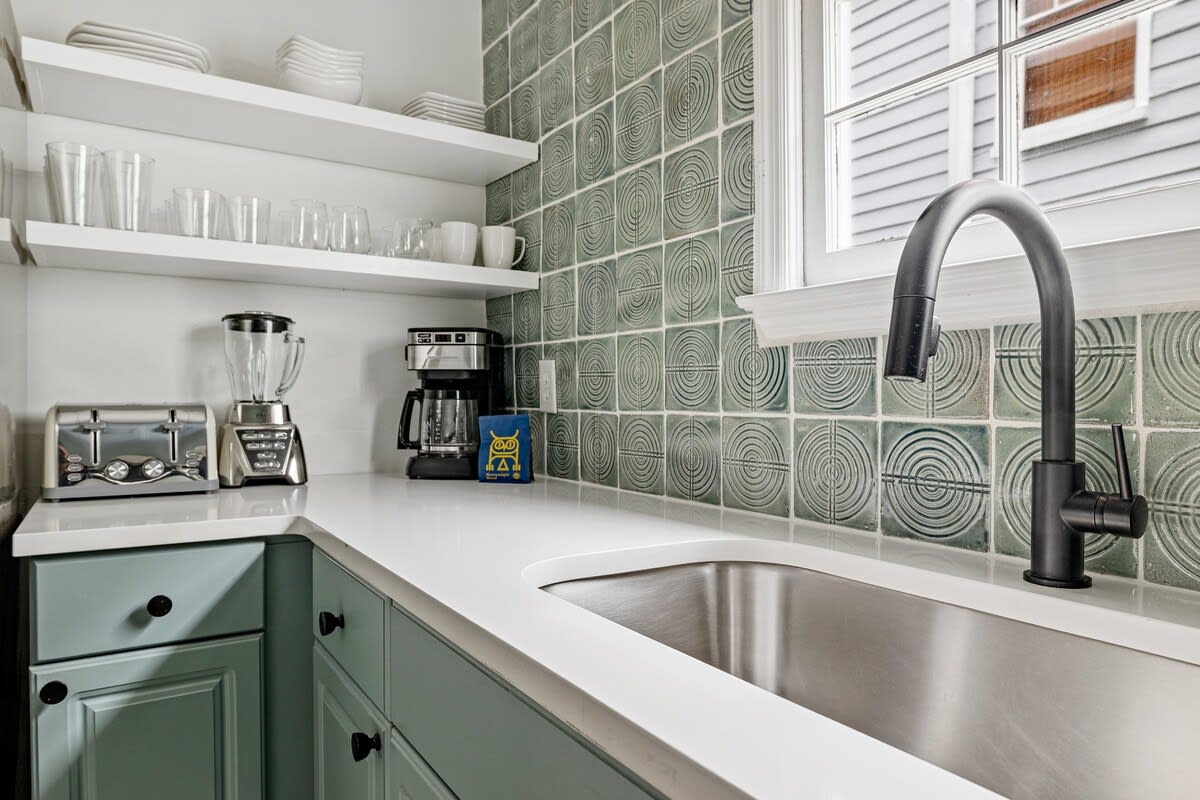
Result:
M950 185L995 178L995 136L994 70L835 125L834 247L906 236Z

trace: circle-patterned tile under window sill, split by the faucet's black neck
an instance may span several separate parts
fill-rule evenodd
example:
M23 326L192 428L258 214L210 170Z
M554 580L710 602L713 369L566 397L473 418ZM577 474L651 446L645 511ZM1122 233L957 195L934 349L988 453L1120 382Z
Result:
M1075 323L1075 415L1079 422L1133 422L1133 317ZM1042 336L1036 324L996 329L996 416L1042 416Z

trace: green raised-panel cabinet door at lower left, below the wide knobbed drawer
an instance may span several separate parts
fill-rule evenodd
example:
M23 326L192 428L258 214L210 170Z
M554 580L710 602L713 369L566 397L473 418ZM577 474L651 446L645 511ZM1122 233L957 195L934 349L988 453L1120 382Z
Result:
M30 669L38 800L258 800L262 634Z

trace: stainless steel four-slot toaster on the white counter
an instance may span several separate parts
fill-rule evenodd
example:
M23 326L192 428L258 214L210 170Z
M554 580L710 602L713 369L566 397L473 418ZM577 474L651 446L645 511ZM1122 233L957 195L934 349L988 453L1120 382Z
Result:
M55 405L42 497L110 498L217 488L217 426L199 403Z

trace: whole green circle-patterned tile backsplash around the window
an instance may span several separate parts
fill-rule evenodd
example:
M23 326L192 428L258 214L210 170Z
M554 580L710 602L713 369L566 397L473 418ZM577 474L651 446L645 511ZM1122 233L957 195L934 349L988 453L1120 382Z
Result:
M1028 558L1037 325L947 331L925 384L882 337L762 348L750 0L484 0L488 130L541 161L491 185L541 289L487 303L539 474ZM1141 541L1087 569L1200 590L1200 311L1080 320L1078 449L1115 488L1128 426ZM557 414L536 411L556 361ZM702 509L703 506L692 506ZM713 510L715 511L715 510Z

